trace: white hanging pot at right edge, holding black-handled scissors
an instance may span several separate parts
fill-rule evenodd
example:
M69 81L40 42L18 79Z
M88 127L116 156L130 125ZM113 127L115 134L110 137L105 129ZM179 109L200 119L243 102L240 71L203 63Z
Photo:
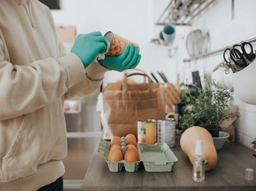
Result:
M234 91L245 103L256 105L256 59L243 70L233 73Z

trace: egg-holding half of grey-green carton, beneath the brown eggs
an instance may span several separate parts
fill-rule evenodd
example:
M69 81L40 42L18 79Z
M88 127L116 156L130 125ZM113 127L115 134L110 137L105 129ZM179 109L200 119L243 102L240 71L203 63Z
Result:
M104 157L105 161L108 164L108 169L110 170L110 172L120 172L122 171L123 166L125 167L125 171L127 172L138 171L141 160L138 162L127 162L125 160L120 160L119 162L110 162L107 160L109 151L110 142L101 139L101 142L99 143L98 147L98 153L100 153L101 156Z

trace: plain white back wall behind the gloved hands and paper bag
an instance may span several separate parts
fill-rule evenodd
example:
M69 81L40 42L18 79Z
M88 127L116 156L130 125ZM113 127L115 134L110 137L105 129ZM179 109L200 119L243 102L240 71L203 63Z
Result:
M139 68L147 73L157 70L175 71L170 65L175 61L167 56L167 47L151 44L163 26L154 23L169 0L62 0L61 10L53 10L55 25L75 25L77 32L116 32L140 45L142 59ZM170 63L170 64L169 64ZM173 74L172 76L175 76ZM104 85L115 82L122 73L105 74ZM172 77L170 77L172 80Z

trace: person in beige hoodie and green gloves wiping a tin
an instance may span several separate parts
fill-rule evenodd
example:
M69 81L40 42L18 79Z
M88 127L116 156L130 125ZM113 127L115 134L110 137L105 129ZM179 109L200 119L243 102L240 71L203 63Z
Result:
M0 5L0 190L63 190L67 155L65 99L98 88L104 72L134 68L130 46L116 58L100 32L78 35L66 53L49 9L37 0Z

